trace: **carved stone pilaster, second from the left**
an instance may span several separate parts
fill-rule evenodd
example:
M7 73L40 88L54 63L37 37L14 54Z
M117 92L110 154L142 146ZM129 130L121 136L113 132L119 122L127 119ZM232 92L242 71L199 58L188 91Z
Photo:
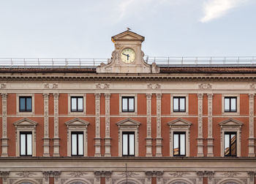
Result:
M49 147L49 111L48 111L48 101L49 101L49 93L43 93L44 96L44 153L43 156L50 156Z

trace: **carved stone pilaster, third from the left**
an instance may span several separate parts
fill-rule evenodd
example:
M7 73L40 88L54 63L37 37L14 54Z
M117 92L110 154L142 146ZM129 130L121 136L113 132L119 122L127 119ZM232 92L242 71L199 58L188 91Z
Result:
M53 93L53 98L54 98L53 156L59 156L59 93Z

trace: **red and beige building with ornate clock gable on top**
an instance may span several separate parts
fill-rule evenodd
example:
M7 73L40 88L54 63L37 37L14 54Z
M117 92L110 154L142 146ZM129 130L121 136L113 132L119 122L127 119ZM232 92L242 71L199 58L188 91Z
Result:
M1 184L256 183L255 60L146 62L143 40L112 37L105 64L1 60Z

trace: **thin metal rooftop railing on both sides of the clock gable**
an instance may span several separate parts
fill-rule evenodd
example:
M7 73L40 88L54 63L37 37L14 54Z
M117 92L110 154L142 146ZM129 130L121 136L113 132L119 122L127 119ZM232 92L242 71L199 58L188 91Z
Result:
M144 57L158 66L256 66L256 56L242 57ZM0 58L1 68L96 68L108 58Z

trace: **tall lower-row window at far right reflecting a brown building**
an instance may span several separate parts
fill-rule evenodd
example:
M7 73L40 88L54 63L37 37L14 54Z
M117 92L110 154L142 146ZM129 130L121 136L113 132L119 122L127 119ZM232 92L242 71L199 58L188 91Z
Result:
M225 156L236 156L236 132L225 132Z

